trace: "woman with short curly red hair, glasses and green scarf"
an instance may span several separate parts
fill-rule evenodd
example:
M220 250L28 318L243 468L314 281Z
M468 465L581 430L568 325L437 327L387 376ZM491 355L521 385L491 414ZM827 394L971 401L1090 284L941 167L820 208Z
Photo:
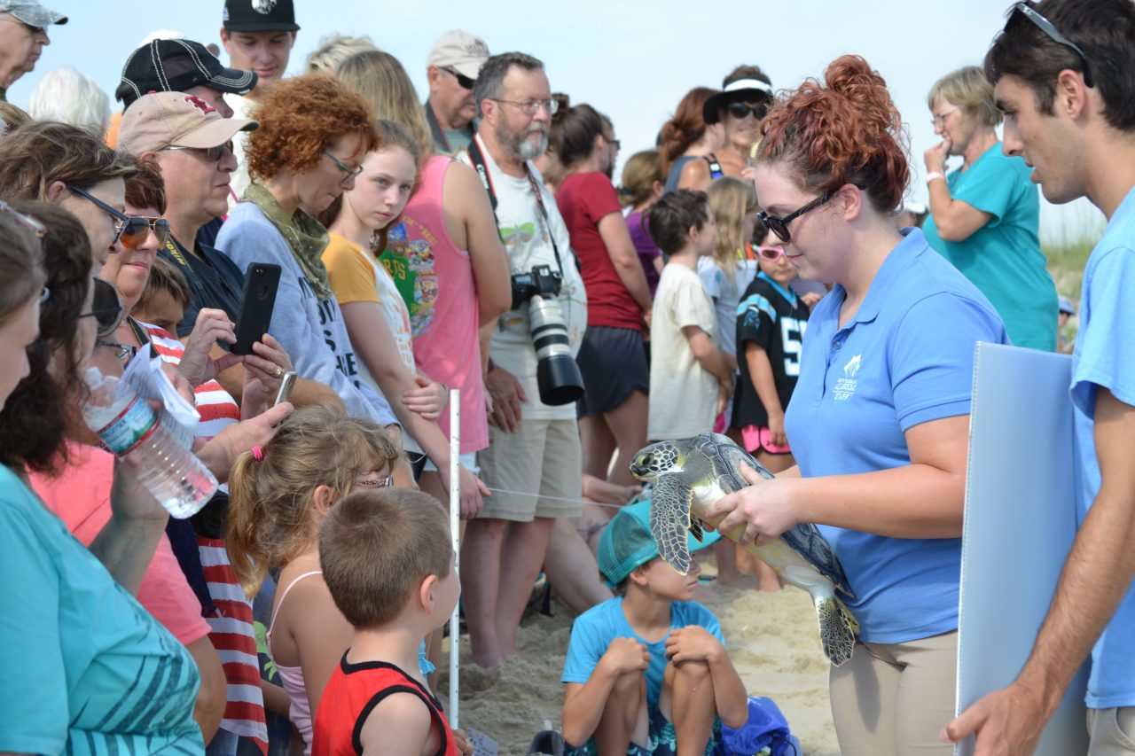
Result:
M379 145L370 109L330 76L311 74L272 86L255 118L260 128L245 152L254 183L217 246L242 269L251 262L283 269L269 331L293 355L300 377L335 389L351 415L396 422L386 398L360 375L321 260L327 229L316 220L354 186L363 158Z

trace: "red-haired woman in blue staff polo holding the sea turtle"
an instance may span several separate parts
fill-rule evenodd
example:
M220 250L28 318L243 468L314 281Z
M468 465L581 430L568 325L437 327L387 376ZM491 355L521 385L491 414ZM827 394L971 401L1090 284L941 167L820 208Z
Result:
M867 61L839 58L823 83L776 102L762 132L768 241L833 287L802 353L784 355L799 373L784 422L797 467L707 516L745 527L745 543L805 521L831 543L860 624L830 678L842 753L951 754L938 733L953 714L974 345L1006 343L1004 326L920 230L896 230L910 174L902 123Z

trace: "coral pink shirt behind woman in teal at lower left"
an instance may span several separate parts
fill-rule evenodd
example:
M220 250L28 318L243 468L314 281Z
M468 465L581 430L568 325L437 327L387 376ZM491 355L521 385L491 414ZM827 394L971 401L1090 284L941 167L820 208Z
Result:
M70 463L58 478L31 473L32 489L59 515L84 546L90 546L110 521L110 487L115 457L93 446L67 442ZM138 603L183 645L209 635L201 604L185 581L169 538L161 535L158 549L142 577Z

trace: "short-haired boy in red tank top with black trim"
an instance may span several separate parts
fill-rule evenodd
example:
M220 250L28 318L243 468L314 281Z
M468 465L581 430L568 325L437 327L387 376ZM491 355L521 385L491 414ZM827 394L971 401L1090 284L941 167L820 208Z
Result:
M354 625L316 712L312 754L472 754L418 669L418 647L457 604L448 514L403 488L351 494L319 535L323 580Z

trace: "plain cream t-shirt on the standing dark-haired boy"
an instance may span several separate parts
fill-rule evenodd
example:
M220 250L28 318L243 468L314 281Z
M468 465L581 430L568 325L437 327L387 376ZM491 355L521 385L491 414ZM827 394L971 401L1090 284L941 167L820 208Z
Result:
M662 269L650 324L650 440L689 438L713 430L717 378L703 368L682 333L697 326L720 347L713 300L697 272L669 263Z

